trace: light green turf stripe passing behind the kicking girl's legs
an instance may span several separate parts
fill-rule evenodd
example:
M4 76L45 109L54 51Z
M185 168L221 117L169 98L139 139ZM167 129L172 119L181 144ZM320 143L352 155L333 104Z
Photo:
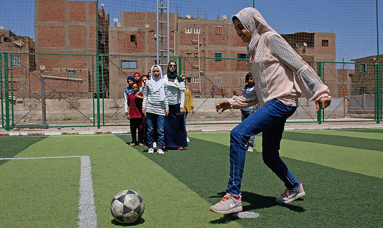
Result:
M305 133L305 131L299 132ZM316 132L326 133L328 131L323 130ZM313 131L307 131L307 133L314 134ZM201 140L208 139L208 141L211 142L230 145L229 133L191 133L190 137ZM261 143L261 137L255 137L254 148L258 152L262 151ZM282 140L280 155L335 169L383 178L383 154L379 151L340 147L320 143Z

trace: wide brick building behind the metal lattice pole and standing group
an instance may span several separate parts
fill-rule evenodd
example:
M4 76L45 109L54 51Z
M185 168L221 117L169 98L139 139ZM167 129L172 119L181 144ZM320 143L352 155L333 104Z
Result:
M164 14L164 18L166 17ZM182 72L194 95L209 96L214 83L215 95L225 87L226 95L240 90L248 72L246 44L235 34L231 20L208 20L178 17L170 13L170 51L172 56L186 57ZM164 29L166 30L166 29ZM121 26L109 28L109 53L116 55L145 55L153 57L111 56L111 98L122 98L126 77L135 71L146 74L156 62L156 13L121 11ZM166 31L163 33L166 35ZM164 46L167 44L165 42ZM237 58L242 60L224 59ZM198 59L193 57L209 57ZM113 60L112 60L113 59ZM171 57L171 59L174 59ZM166 60L165 60L166 61ZM166 69L163 69L166 72ZM116 90L114 90L116 89Z

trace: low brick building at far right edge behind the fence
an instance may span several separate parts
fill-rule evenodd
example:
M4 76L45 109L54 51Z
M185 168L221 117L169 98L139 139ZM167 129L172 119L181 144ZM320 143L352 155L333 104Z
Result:
M383 62L382 59L383 54L380 54L379 63ZM375 94L378 55L351 59L351 61L355 62L355 74L352 77L352 94ZM380 73L382 74L382 67Z

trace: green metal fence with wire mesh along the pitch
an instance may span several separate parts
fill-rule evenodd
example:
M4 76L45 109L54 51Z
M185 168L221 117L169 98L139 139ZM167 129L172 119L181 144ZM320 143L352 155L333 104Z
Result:
M35 59L52 58L54 61L75 58L76 64L70 69L35 69L22 61L32 55ZM129 121L125 117L123 99L126 77L133 75L134 71L148 72L148 68L124 69L121 61L140 59L153 64L155 59L155 56L143 55L14 52L2 52L0 56L1 128L7 131L41 127L127 126ZM179 63L179 73L187 75L187 86L193 95L196 112L188 116L188 124L240 122L238 110L218 115L214 105L231 97L233 90L240 91L244 75L249 70L246 61L236 58L174 58ZM201 72L192 67L193 61L198 60L200 64L227 67ZM323 82L333 88L332 104L316 113L314 102L299 98L299 108L290 121L319 124L382 121L383 64L315 61L309 64ZM346 65L346 69L339 69L341 65ZM361 72L360 65L366 66L367 70ZM166 73L166 69L163 70Z

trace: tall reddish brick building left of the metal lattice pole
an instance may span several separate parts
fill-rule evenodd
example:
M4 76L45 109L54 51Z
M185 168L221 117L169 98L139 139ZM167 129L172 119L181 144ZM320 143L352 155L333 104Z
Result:
M97 9L96 1L35 0L35 51L47 53L36 55L37 67L45 67L44 75L83 79L80 87L65 82L58 90L88 97L96 74L91 55L97 47L99 54L108 54L108 28L109 14ZM107 65L108 59L103 60ZM109 80L107 73L104 79Z

